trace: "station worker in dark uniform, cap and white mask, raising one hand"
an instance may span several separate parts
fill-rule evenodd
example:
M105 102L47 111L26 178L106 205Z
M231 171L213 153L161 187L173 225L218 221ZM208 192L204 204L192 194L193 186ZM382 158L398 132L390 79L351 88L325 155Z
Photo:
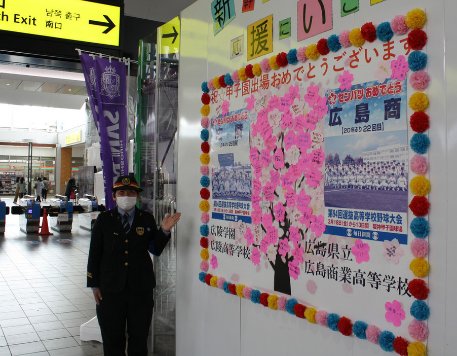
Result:
M111 187L117 206L95 221L87 264L87 287L97 303L105 356L147 355L147 336L156 286L149 251L159 256L180 213L167 215L158 229L154 216L135 207L142 191L133 176Z

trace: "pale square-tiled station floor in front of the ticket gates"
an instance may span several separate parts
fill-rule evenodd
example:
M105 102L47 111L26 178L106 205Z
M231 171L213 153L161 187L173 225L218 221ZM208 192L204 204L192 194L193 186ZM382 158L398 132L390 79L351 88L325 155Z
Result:
M8 206L13 197L2 196ZM102 355L102 344L80 339L95 316L86 288L90 231L73 219L71 232L39 236L8 215L0 235L0 356ZM65 241L58 241L65 240Z

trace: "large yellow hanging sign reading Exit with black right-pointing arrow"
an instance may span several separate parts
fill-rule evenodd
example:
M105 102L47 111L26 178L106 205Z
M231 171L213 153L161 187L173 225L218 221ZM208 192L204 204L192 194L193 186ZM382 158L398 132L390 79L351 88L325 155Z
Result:
M119 46L121 8L83 0L0 0L0 30Z

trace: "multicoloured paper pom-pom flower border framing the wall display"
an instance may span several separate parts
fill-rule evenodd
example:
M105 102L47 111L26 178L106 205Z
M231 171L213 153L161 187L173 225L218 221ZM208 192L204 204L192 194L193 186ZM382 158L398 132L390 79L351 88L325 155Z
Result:
M208 116L210 114L208 93L210 91L221 87L232 86L235 83L246 81L250 78L254 78L255 76L259 77L262 72L268 73L272 69L277 70L287 64L294 65L308 59L315 61L320 55L326 55L330 51L337 52L342 47L350 47L351 45L360 47L365 43L365 41L373 42L376 38L380 41L387 42L391 40L394 33L405 34L409 29L412 29L410 33L415 31L408 35L407 41L408 45L414 50L408 56L408 67L412 70L412 72L415 72L412 79L410 78L410 85L414 90L416 90L416 92L410 96L408 101L410 108L414 111L414 114L410 119L410 126L412 130L420 132L424 135L420 138L412 140L410 144L411 149L414 152L425 154L430 144L428 136L423 134L423 131L426 131L429 128L429 118L427 114L424 113L424 111L428 108L429 101L427 95L422 91L427 88L430 82L429 75L423 70L427 65L427 55L424 52L420 52L427 41L427 34L421 30L425 22L425 12L421 9L413 9L409 11L406 16L397 15L390 23L380 23L376 28L371 22L365 23L362 26L362 30L360 30L360 28L354 28L351 31L343 30L339 33L339 35L332 34L327 40L319 40L318 44L311 44L306 47L291 49L287 54L285 52L281 52L270 58L263 58L260 63L253 65L248 64L246 67L241 67L240 69L235 70L232 74L227 73L202 83L203 106L200 112L203 118L201 120L202 131L200 133L200 137L203 140L203 144L201 145L202 155L200 156L200 162L202 163L202 166L200 167L200 173L202 174L200 183L202 185L201 192L203 191L205 194L200 194L203 200L199 203L199 208L202 211L201 221L203 223L203 225L200 226L200 234L202 235L200 239L200 245L202 247L200 252L200 256L202 258L202 262L200 264L201 272L199 273L200 281L206 283L208 286L222 289L225 293L249 299L254 304L261 304L264 307L269 307L273 310L287 311L291 315L307 319L308 322L312 324L319 324L321 326L328 327L333 331L339 331L342 335L352 336L354 334L360 339L367 339L374 344L378 344L385 351L396 351L400 355L407 356L425 356L427 354L426 346L421 341L425 341L428 336L428 328L424 320L428 318L429 310L427 304L423 302L423 300L427 299L429 289L425 280L419 279L426 277L429 270L429 264L424 259L424 257L428 255L428 243L423 240L428 236L429 227L428 221L424 217L415 218L411 222L411 231L414 230L414 235L418 236L415 240L419 239L423 241L412 241L412 245L414 247L411 248L411 253L415 258L411 261L410 269L418 278L410 280L408 284L408 289L411 292L411 295L416 298L416 301L413 303L413 307L411 307L410 310L411 315L415 319L408 326L408 331L410 336L417 341L409 343L402 337L395 337L395 335L390 331L381 332L374 325L368 325L362 321L356 321L353 324L351 320L345 316L340 317L335 313L328 313L324 310L318 311L315 308L307 307L298 303L294 298L288 299L284 296L279 297L274 294L270 295L268 293L262 293L259 290L253 290L244 284L230 283L224 277L213 276L212 274L207 273L209 268L208 259L210 257L208 250L209 227L207 225L209 222L208 199L210 198L210 194L208 194L209 190L206 189L210 184L208 166L210 162L208 154ZM417 72L419 73L417 74ZM421 118L420 123L417 121L417 118L419 117ZM425 173L426 172L424 172L424 175ZM427 195L430 190L430 182L424 175L420 178L421 186L419 188L422 189L418 190L420 192L425 192L424 195ZM426 188L424 188L424 185ZM415 188L417 191L417 187ZM422 219L421 223L414 224L416 219Z

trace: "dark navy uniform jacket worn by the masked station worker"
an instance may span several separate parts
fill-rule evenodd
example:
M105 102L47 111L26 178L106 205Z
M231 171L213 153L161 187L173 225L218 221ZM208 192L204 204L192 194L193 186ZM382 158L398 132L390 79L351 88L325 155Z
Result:
M92 229L87 263L87 287L103 293L122 292L126 285L138 291L156 286L149 243L159 256L169 236L158 229L154 216L135 207L135 218L125 234L118 208L102 212Z

